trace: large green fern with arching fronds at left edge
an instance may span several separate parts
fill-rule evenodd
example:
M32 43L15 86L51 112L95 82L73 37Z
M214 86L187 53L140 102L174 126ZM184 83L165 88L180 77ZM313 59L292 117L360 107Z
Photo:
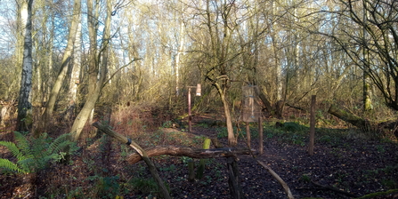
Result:
M0 145L7 147L18 159L17 163L12 163L10 160L0 158L0 167L10 171L36 172L44 169L50 161L62 159L65 152L72 154L77 150L76 144L69 140L69 134L63 134L52 140L43 133L39 138L30 141L18 131L15 131L14 135L17 144L0 141Z

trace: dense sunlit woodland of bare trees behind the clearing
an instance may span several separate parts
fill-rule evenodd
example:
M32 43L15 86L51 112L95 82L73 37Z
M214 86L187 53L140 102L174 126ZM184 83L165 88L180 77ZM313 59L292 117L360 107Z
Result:
M308 125L316 95L319 128L398 135L394 0L2 0L0 34L4 141L69 133L82 147L95 121L125 135L186 127L191 90L192 113L235 146L243 86L265 121Z

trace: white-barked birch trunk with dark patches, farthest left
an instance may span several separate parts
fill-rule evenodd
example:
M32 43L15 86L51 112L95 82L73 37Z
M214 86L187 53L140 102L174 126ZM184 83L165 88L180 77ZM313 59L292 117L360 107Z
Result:
M20 20L22 27L23 60L20 78L20 97L18 100L17 131L29 131L32 123L32 105L30 95L32 91L32 4L33 0L24 0L20 6Z

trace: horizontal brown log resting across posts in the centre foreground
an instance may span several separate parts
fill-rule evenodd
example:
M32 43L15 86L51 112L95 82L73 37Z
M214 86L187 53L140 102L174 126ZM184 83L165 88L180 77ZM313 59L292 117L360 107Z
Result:
M158 155L176 155L204 159L215 157L234 157L236 155L249 155L250 151L247 148L237 149L231 147L202 149L195 147L157 146L147 149L146 153L150 157ZM142 157L141 155L134 153L132 155L129 155L126 160L128 163L133 164L140 162L142 160Z

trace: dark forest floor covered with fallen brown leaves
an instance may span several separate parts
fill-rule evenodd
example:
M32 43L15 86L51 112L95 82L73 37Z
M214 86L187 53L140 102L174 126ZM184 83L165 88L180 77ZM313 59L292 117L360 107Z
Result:
M192 132L168 128L130 135L142 147L158 145L201 147L204 138L218 138L226 145L224 127L197 116ZM245 129L244 126L240 127ZM251 147L258 149L256 123L250 125ZM115 131L122 131L115 128ZM244 132L242 132L244 134ZM245 198L287 198L286 193L260 160L280 175L295 198L355 198L398 188L398 145L387 139L364 139L352 129L316 129L314 155L308 155L308 127L298 123L264 122L264 154L239 155L240 185ZM126 134L126 133L125 133ZM52 163L37 173L33 186L26 175L0 176L1 198L154 198L158 187L146 164L133 165L134 153L126 145L102 138L83 143L71 163ZM82 145L82 143L81 143ZM211 146L213 147L213 146ZM243 136L237 147L247 147ZM11 158L4 147L0 157ZM189 161L182 156L152 157L172 198L231 198L225 158L207 159L204 177L188 181ZM321 186L320 186L321 185ZM331 187L331 188L329 188ZM337 189L341 192L338 192ZM398 192L370 198L398 198Z

